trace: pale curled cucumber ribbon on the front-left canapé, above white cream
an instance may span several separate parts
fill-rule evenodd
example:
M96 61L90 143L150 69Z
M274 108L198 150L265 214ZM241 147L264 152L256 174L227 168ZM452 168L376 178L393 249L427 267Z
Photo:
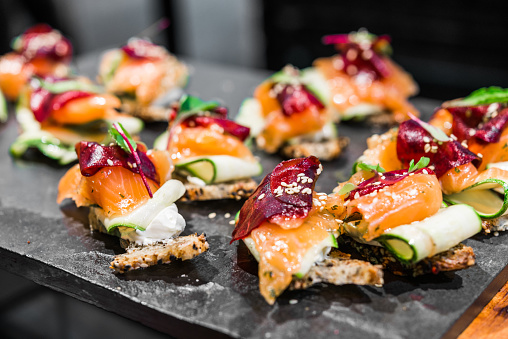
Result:
M172 205L185 193L181 181L169 180L164 183L144 205L128 215L109 218L103 209L97 209L97 217L111 233L117 227L127 227L145 231L152 220L166 207Z

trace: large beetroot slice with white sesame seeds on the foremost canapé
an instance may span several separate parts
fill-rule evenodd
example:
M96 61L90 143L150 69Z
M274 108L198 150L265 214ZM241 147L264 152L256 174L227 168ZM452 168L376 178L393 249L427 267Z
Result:
M307 217L312 208L312 192L320 165L314 156L287 160L277 165L240 210L231 243L247 237L252 230L274 217ZM299 192L288 191L287 186L295 187L295 184Z

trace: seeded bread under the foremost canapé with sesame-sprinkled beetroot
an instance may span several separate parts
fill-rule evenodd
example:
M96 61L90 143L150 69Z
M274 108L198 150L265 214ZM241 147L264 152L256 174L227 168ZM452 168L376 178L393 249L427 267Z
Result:
M339 250L330 252L328 258L312 266L301 279L293 278L290 289L306 289L314 284L333 285L382 285L383 267L363 260L351 259L351 255Z

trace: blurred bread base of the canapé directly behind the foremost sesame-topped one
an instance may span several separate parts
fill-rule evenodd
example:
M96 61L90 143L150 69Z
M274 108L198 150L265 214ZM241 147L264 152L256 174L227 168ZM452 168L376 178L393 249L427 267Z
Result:
M342 150L349 145L349 138L338 137L322 142L302 142L296 145L284 145L280 153L286 158L301 158L314 155L320 160L333 160L338 158Z

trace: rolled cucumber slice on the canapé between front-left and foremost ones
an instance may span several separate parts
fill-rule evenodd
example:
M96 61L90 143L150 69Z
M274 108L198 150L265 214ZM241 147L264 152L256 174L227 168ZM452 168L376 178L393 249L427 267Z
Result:
M250 178L263 172L258 161L252 162L229 155L185 159L176 164L175 169L197 177L207 184Z

